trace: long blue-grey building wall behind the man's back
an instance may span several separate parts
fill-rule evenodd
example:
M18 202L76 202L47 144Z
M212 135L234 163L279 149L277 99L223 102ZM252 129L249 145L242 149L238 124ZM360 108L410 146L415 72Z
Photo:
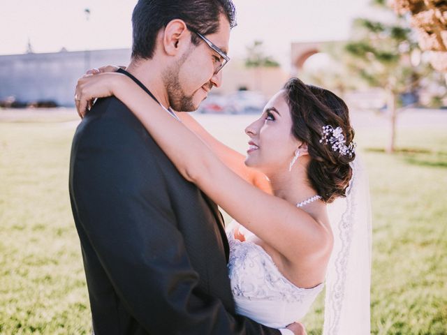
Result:
M78 78L86 70L107 64L127 65L131 50L91 50L0 56L0 101L54 101L73 106Z

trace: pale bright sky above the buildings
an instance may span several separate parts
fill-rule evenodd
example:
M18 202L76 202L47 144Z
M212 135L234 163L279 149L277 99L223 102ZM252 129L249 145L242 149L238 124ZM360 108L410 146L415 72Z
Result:
M266 54L290 62L291 42L343 40L369 0L233 0L230 57L263 40ZM136 0L0 0L0 54L131 47ZM89 8L87 20L85 8Z

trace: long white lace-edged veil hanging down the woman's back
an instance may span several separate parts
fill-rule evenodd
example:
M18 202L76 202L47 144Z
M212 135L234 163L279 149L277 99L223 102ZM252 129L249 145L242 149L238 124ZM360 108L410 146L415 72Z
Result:
M328 206L334 247L326 274L323 335L370 334L371 209L367 173L358 155L346 198Z

